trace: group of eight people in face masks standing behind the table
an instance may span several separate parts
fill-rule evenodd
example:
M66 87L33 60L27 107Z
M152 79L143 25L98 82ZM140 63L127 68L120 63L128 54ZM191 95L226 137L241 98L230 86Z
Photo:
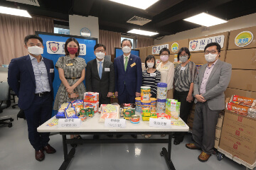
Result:
M37 128L51 117L52 109L58 110L65 102L74 98L83 99L85 91L98 92L100 104L110 103L110 97L116 96L119 104L135 103L140 96L141 86L151 86L151 97L156 98L156 84L167 84L167 98L181 102L180 117L186 123L188 113L196 98L193 139L195 144L187 144L189 149L203 149L201 159L208 160L213 152L215 125L218 111L224 109L224 94L231 74L231 66L218 60L220 45L206 45L205 56L208 64L201 67L197 74L196 64L189 59L191 54L186 47L178 51L178 64L169 62L170 51L167 48L159 52L161 62L156 65L155 57L149 55L145 60L146 70L142 72L140 57L131 54L132 42L122 40L124 55L116 57L114 64L105 60L106 47L97 44L94 47L95 60L85 62L79 56L80 46L75 38L65 42L65 56L55 64L61 80L53 103L53 61L43 58L43 40L38 35L28 35L25 47L29 55L11 60L8 82L19 100L18 106L23 109L28 123L28 139L35 149L36 160L44 159L45 154L55 153L48 142L49 133L39 133ZM86 71L85 71L86 69ZM82 81L85 79L85 84ZM185 133L174 134L174 145L183 141ZM213 137L214 136L214 137ZM80 135L72 135L82 139ZM136 137L136 136L134 136Z

